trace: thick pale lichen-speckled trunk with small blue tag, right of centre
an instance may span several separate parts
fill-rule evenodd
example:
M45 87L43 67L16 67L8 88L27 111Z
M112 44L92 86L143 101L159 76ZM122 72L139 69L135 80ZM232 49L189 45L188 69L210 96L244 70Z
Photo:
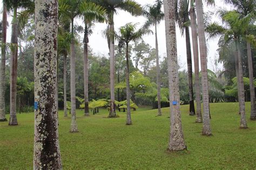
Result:
M170 141L167 150L180 151L185 150L186 145L180 115L177 41L173 0L164 1L164 12L171 112Z

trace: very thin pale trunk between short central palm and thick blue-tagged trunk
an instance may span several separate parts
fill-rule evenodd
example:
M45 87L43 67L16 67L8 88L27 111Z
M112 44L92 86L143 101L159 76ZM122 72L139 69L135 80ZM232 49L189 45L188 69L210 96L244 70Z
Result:
M157 106L158 116L161 116L161 89L160 89L160 67L159 67L159 54L158 54L158 40L157 40L157 24L154 24L156 30L156 61L157 61Z

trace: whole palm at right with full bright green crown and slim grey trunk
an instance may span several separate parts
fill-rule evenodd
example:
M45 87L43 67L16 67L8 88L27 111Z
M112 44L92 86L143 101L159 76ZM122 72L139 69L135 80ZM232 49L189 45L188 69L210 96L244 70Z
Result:
M241 17L237 11L219 11L222 22L225 26L221 26L218 23L212 23L207 26L206 31L210 33L210 37L221 36L220 41L234 42L235 46L235 60L238 65L238 91L240 100L240 128L247 128L246 116L245 116L245 92L244 92L244 79L242 75L242 61L240 52L241 37L247 26L250 24L252 15Z

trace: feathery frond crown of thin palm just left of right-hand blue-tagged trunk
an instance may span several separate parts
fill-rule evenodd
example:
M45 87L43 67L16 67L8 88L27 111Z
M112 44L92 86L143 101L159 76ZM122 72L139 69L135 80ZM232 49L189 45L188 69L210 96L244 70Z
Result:
M144 24L145 28L149 28L152 25L157 25L164 19L164 12L161 11L161 6L163 2L157 0L154 5L146 5L143 10L143 16L147 18L146 23Z

